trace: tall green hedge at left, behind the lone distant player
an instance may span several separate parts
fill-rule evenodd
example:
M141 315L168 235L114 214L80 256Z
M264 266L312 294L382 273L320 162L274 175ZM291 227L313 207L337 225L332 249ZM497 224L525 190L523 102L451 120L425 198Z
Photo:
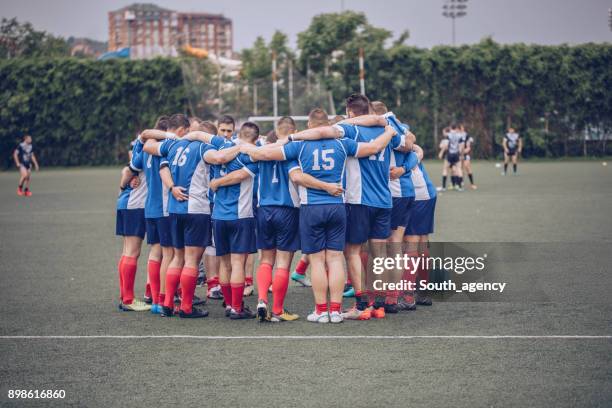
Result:
M176 60L0 60L0 163L24 133L44 165L123 161L138 130L185 110L184 94Z

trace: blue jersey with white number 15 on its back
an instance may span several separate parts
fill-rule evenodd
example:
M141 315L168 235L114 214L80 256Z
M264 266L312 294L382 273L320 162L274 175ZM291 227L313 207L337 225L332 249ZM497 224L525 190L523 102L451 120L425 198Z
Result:
M304 173L335 184L343 182L346 160L358 151L359 144L346 138L291 142L283 146L285 160L298 160ZM324 190L299 186L299 193L302 204L344 202L344 197L334 197Z

